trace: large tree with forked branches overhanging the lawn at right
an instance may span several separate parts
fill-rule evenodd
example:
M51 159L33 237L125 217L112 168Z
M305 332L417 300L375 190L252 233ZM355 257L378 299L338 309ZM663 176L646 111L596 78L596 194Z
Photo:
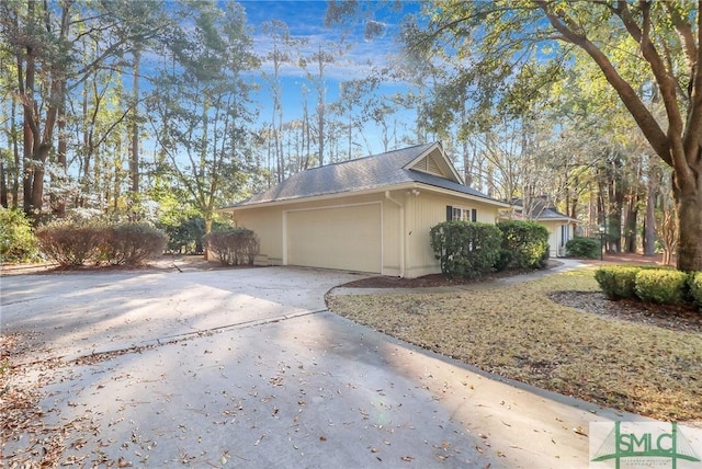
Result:
M514 67L534 60L563 64L574 47L601 70L655 153L673 172L679 215L678 267L702 270L702 2L494 1L423 3L426 30L408 35L410 47L440 46L469 61L488 90L505 92ZM619 55L626 42L634 57ZM631 73L635 72L635 78ZM547 78L547 76L542 75ZM659 90L659 119L637 93L635 80ZM540 80L532 78L532 83ZM501 87L501 88L500 88ZM534 87L521 81L522 93ZM507 90L509 93L510 90Z

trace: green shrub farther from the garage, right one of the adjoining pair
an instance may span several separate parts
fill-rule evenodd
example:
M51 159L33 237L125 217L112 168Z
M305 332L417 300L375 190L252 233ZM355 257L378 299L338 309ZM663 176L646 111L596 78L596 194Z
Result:
M512 259L506 268L542 268L546 265L548 259L546 227L533 221L501 221L497 224L497 228L502 232L502 250L512 253ZM503 260L500 259L500 264ZM501 266L500 264L497 266Z

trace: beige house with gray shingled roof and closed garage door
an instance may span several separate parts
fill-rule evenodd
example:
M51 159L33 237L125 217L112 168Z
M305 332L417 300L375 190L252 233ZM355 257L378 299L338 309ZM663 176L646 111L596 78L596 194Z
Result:
M415 278L441 272L429 229L494 224L508 204L462 183L440 144L302 171L220 211L260 238L259 263Z

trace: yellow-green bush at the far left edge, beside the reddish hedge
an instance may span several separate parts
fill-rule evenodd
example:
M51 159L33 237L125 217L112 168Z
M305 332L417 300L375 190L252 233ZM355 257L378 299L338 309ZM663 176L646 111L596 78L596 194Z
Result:
M0 264L38 259L38 242L32 224L20 210L0 207Z

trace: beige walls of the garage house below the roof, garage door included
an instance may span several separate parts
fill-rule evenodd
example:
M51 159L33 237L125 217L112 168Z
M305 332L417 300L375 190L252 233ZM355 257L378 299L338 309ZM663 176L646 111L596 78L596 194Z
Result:
M477 210L494 224L498 207L429 191L343 196L237 210L239 226L261 240L269 263L380 272L414 278L439 273L429 230L445 221L446 206ZM403 254L404 252L404 254Z

